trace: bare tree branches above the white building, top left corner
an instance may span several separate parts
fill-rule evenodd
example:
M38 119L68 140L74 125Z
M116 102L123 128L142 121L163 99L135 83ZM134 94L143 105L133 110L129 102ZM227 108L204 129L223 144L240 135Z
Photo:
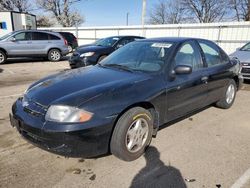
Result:
M29 0L0 0L0 10L28 12L31 10L31 4Z

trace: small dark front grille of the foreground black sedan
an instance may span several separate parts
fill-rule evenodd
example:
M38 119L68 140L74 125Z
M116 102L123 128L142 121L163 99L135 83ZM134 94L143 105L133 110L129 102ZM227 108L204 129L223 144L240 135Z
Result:
M47 107L39 104L37 102L31 101L26 97L22 101L23 109L25 112L34 116L45 116L47 112Z

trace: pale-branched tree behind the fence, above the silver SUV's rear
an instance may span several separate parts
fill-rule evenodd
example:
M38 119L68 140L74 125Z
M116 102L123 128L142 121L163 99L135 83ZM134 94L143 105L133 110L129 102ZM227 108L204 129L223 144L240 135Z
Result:
M45 11L52 13L63 27L71 27L84 22L84 17L72 10L72 5L81 0L37 0L37 4Z

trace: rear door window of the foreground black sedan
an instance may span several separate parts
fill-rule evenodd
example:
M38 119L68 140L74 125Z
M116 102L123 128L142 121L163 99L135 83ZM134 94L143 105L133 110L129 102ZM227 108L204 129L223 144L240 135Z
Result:
M204 52L208 67L220 65L226 61L225 57L224 60L221 57L220 50L215 44L207 41L200 41L199 44Z

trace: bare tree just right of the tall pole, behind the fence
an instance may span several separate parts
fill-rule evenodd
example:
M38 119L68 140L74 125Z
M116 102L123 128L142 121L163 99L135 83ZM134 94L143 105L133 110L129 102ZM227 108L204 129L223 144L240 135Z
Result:
M149 14L150 24L177 24L183 20L184 8L181 0L161 0Z

